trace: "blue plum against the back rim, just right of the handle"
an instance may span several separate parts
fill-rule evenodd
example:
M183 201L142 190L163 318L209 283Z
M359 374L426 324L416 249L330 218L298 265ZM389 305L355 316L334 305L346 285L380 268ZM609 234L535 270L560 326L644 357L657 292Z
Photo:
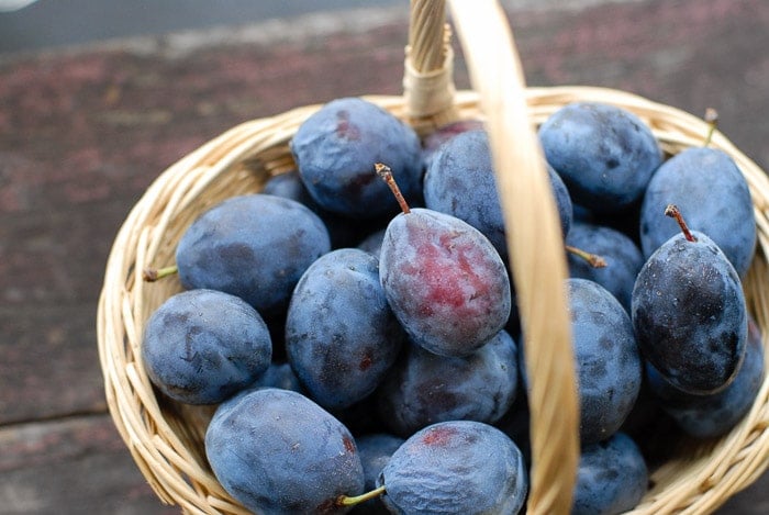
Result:
M564 105L540 125L539 139L572 200L595 212L616 213L639 201L662 163L644 121L606 103Z

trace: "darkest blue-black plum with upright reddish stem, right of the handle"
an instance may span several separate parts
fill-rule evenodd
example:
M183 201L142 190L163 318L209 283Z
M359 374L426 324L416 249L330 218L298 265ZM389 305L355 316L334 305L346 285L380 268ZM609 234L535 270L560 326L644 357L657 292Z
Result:
M734 380L747 343L745 295L703 233L679 232L647 259L631 312L644 357L676 388L715 393Z

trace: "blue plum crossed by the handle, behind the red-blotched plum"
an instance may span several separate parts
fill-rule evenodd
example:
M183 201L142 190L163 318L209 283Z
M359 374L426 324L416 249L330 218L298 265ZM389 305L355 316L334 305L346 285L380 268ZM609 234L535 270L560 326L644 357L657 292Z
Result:
M560 177L549 167L548 172L561 231L567 234L572 219L571 199ZM476 227L506 261L504 219L486 131L458 134L435 152L424 176L424 200L426 208Z

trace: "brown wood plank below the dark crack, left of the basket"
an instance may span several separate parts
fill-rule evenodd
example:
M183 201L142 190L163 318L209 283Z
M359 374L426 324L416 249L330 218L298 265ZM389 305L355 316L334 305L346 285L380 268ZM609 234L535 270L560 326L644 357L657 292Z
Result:
M0 514L170 515L108 415L0 428Z

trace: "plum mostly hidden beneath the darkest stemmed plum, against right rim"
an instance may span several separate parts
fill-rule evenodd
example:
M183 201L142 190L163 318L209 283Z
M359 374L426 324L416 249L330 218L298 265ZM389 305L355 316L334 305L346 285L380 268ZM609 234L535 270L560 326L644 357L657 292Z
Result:
M676 424L688 435L713 438L731 430L750 411L764 382L764 344L755 322L748 324L745 360L732 384L710 395L693 395L672 387L646 365L649 389Z

